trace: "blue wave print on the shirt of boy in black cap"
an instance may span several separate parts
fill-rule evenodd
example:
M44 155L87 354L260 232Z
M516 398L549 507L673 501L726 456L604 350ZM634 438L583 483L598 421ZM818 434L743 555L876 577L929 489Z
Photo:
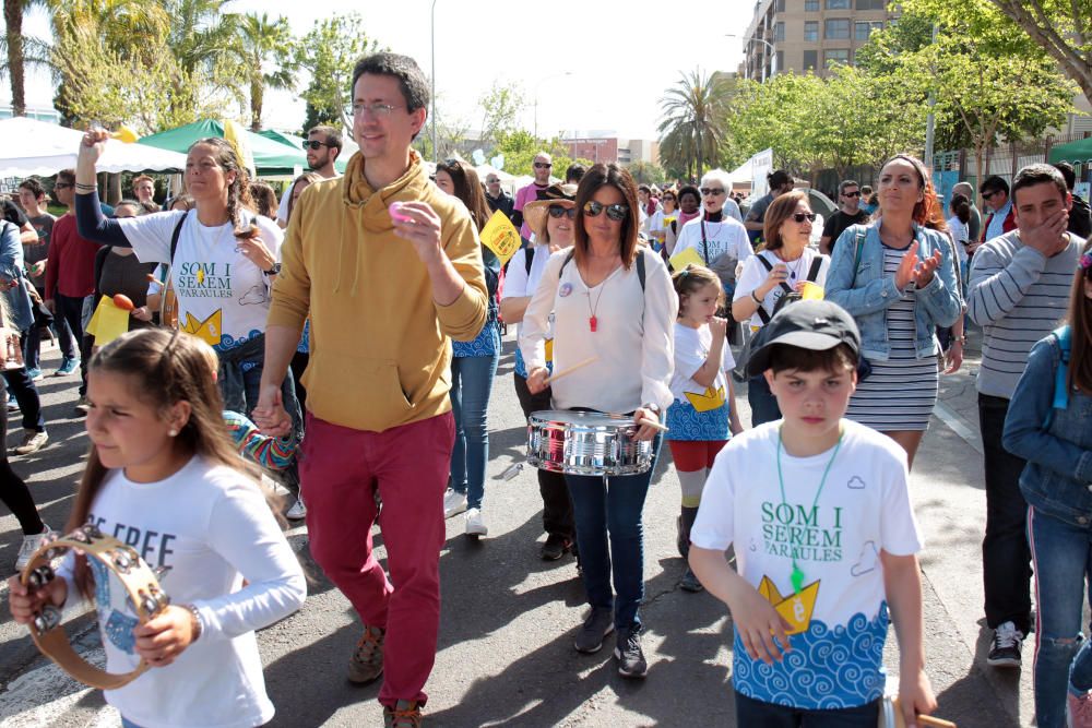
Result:
M883 695L888 622L887 602L871 621L858 612L845 626L830 630L811 620L807 632L788 637L792 649L773 665L752 660L735 630L733 684L750 699L775 705L819 711L867 705Z

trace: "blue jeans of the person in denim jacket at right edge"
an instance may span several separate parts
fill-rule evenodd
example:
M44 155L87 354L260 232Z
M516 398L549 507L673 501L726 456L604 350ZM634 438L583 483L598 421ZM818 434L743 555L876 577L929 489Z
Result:
M1092 526L1073 526L1029 508L1028 540L1038 606L1035 720L1040 728L1060 728L1068 687L1092 689L1092 651L1081 634L1084 580L1092 577Z

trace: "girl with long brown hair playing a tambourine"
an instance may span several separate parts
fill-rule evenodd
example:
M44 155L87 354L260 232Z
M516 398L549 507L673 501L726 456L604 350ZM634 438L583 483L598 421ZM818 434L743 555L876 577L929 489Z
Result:
M94 596L107 669L153 669L106 691L122 726L258 726L273 717L254 630L304 602L306 584L259 486L225 437L217 359L201 339L130 332L91 362L93 447L67 530L91 523L142 545L171 605L139 624L105 568L70 554L29 590L9 582L15 621ZM244 586L246 580L246 586Z

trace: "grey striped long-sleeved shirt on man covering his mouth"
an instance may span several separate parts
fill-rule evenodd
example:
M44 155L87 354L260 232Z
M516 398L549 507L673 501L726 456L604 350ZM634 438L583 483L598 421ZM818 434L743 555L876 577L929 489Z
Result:
M1028 353L1066 315L1073 273L1084 241L1046 258L1020 242L1019 230L975 251L968 283L968 313L983 327L980 393L1010 399Z

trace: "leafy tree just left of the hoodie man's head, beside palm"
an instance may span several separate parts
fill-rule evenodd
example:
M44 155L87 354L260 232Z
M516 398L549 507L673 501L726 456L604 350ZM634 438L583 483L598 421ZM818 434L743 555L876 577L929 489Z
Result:
M378 41L368 38L360 15L351 13L316 21L296 49L297 63L311 74L311 82L301 94L308 107L306 128L314 126L313 119L335 126L340 122L352 129L353 68L361 56L382 50Z

